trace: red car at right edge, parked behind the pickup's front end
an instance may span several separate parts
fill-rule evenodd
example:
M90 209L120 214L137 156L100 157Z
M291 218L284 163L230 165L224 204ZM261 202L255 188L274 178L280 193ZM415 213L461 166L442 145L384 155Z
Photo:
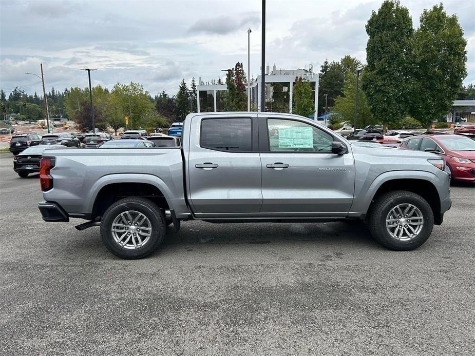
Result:
M475 141L462 135L414 136L403 141L404 149L436 153L444 157L452 179L475 182Z

